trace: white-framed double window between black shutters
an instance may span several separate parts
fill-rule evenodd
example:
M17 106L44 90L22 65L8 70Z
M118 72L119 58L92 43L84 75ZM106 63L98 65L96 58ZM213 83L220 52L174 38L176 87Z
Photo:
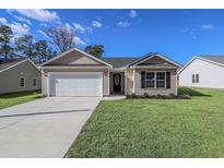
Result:
M146 88L165 88L166 87L166 72L146 72L145 87Z

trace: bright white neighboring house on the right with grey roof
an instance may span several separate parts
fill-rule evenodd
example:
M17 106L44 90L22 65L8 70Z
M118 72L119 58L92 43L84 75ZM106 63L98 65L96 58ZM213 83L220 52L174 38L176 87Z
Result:
M196 56L179 72L179 86L224 88L224 56Z

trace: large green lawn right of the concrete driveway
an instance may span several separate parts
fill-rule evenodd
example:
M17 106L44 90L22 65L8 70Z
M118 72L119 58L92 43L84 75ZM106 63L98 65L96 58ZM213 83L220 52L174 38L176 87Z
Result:
M101 101L66 157L224 157L224 91Z

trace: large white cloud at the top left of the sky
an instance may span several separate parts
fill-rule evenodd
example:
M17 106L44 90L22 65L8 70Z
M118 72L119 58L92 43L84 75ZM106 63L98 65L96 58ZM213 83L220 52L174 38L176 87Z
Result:
M60 19L57 12L50 12L49 10L42 10L42 9L8 10L8 12L11 14L12 14L12 11L16 11L21 15L24 15L26 17L40 21L40 22L54 22Z

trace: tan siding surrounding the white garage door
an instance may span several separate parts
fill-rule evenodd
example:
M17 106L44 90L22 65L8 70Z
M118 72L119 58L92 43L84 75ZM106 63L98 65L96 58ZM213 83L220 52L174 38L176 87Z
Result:
M47 73L48 72L103 72L103 96L108 96L109 95L109 74L108 74L108 69L45 69L43 70L43 95L47 96Z

